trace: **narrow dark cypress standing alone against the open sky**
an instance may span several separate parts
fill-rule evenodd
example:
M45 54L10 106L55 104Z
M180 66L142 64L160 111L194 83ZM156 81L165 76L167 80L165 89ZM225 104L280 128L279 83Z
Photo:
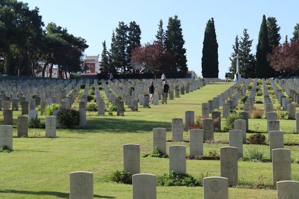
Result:
M218 78L218 43L216 40L214 18L207 22L204 31L201 69L204 78Z

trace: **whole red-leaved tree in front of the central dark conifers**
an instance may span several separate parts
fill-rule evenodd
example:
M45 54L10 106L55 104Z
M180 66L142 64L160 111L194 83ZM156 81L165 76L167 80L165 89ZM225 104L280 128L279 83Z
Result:
M169 71L175 64L174 56L159 42L148 42L135 48L131 59L136 70L151 73L155 79L159 73Z

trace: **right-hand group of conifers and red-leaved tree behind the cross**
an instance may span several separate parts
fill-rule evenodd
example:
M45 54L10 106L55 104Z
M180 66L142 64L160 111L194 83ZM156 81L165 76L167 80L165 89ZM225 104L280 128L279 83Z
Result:
M259 32L259 40L257 51L254 55L251 53L252 41L249 39L247 29L243 31L243 37L239 40L238 35L233 45L233 53L229 58L231 67L229 68L229 77L233 78L236 73L236 56L239 55L239 71L244 78L270 78L270 77L286 77L296 75L295 70L297 43L293 43L299 39L299 24L295 26L294 37L291 38L291 43L286 41L280 44L281 35L279 34L280 27L277 24L275 17L263 15L263 20ZM292 50L291 50L292 49ZM292 51L292 53L290 53ZM297 51L298 52L298 51ZM299 57L299 54L297 54ZM288 61L286 61L288 59ZM297 60L299 60L297 58ZM289 63L289 64L286 64ZM292 63L292 64L290 64ZM297 63L297 67L299 64Z

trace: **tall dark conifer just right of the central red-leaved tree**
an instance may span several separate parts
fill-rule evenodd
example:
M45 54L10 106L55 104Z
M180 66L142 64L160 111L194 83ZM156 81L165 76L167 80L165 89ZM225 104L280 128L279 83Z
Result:
M186 59L186 49L183 48L185 43L182 35L180 20L177 19L177 15L174 18L169 17L167 30L165 33L166 40L165 46L167 50L170 50L172 55L175 56L176 64L172 65L169 73L177 77L183 77L188 71L187 59ZM168 71L167 71L168 72Z

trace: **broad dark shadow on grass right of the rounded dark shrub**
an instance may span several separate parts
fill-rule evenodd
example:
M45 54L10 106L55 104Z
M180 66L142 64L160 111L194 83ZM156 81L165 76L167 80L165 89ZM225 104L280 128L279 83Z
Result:
M115 116L88 118L87 125L90 130L96 132L139 132L140 131L152 131L153 128L171 128L170 122L163 121L147 121L138 119L126 119L126 116L122 118L116 118Z

